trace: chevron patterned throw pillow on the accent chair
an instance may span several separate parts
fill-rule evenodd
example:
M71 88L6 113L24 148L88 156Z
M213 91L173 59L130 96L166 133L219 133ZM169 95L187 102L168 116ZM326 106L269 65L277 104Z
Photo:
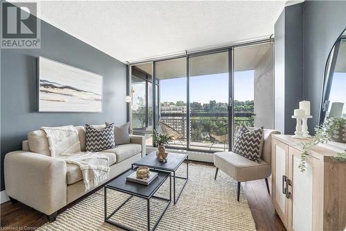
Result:
M262 146L263 128L248 130L245 126L241 126L235 137L233 152L260 163Z

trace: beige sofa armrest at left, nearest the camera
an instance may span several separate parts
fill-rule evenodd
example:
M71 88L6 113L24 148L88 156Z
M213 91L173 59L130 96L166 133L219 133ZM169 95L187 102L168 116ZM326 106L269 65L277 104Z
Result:
M4 160L8 196L50 215L66 205L66 162L58 158L14 151Z

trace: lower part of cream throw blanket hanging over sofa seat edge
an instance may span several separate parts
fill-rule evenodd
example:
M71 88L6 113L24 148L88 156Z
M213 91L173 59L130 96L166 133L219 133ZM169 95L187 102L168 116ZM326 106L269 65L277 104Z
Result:
M73 153L62 157L66 163L77 164L83 174L85 191L109 178L109 158L102 153Z

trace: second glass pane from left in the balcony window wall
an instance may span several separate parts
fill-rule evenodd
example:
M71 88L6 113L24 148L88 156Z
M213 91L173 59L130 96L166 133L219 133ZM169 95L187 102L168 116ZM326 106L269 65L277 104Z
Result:
M155 62L155 79L158 84L158 121L159 132L170 135L173 141L169 146L187 146L187 77L186 58L174 58Z

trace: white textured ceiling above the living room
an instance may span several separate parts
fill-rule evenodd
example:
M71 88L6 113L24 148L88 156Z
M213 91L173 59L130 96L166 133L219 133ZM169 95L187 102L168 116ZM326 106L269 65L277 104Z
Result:
M125 62L271 35L286 1L41 1L44 21Z

